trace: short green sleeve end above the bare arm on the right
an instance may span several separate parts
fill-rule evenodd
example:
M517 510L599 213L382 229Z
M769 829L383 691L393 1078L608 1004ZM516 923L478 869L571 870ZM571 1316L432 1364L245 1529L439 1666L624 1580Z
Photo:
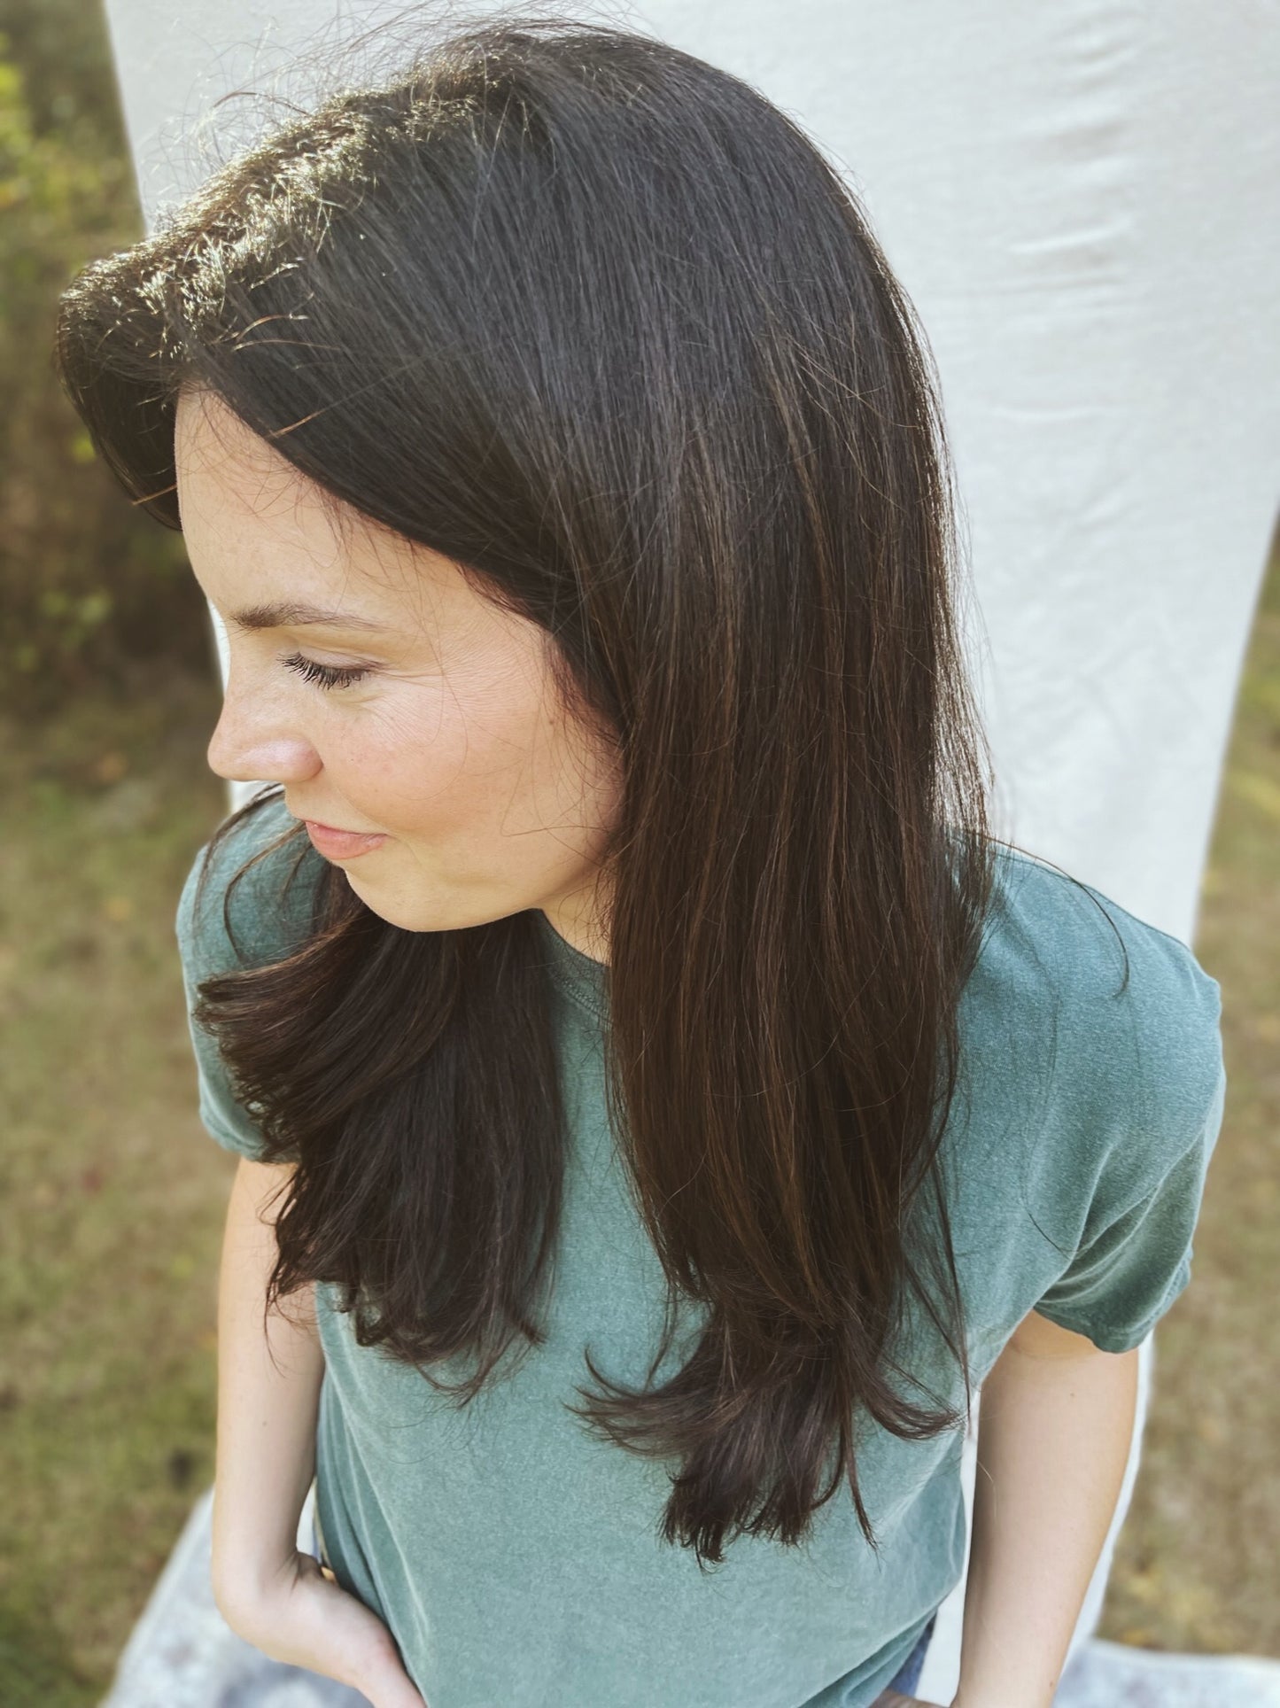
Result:
M1191 1144L1136 1202L1102 1204L1090 1216L1070 1266L1036 1303L1042 1317L1106 1353L1128 1353L1150 1334L1191 1279L1191 1237L1225 1097L1218 1052Z

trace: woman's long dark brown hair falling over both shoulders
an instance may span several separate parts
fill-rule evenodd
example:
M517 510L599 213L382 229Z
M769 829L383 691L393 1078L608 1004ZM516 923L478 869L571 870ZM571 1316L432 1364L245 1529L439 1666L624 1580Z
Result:
M569 1409L677 1460L661 1537L699 1565L796 1544L844 1477L878 1546L860 1411L913 1440L967 1416L892 1382L907 1290L971 1404L935 1158L995 842L933 362L846 183L689 53L489 14L89 265L55 360L169 528L193 386L545 629L620 762L605 1062L668 1283L649 1377L680 1303L706 1312L663 1385L588 1354ZM297 1165L270 1301L337 1283L359 1344L429 1380L473 1353L460 1404L543 1339L542 960L530 910L412 933L325 868L294 953L200 991L267 1160Z

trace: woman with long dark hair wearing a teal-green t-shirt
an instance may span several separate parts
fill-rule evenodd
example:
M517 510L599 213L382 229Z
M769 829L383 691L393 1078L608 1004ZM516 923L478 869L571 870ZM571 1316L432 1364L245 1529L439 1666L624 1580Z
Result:
M697 58L489 17L85 268L56 360L268 784L178 909L227 1621L376 1708L909 1701L983 1383L955 1703L1048 1705L1220 991L989 834L848 188Z

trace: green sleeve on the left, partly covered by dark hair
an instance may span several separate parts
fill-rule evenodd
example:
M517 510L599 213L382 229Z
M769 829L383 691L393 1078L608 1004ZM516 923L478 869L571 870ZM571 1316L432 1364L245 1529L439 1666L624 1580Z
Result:
M197 1025L193 1009L198 986L222 972L234 972L244 962L227 934L224 921L224 897L227 883L239 866L256 852L272 834L279 834L289 825L289 815L268 799L265 808L256 810L246 820L231 828L226 839L214 849L208 876L205 878L200 905L197 909L197 886L200 873L208 859L205 844L191 863L191 869L183 883L174 917L174 934L178 938L178 956L183 972L183 992L186 997L186 1028L191 1038L191 1052L197 1068L198 1110L205 1131L224 1149L255 1161L263 1158L265 1138L251 1112L238 1100L232 1090L231 1071L222 1059L217 1038ZM263 868L272 866L270 871ZM270 893L270 885L279 878L279 863L263 861L232 892L232 929L236 941L253 948L253 960L270 960L287 948L280 934L285 922L279 898Z

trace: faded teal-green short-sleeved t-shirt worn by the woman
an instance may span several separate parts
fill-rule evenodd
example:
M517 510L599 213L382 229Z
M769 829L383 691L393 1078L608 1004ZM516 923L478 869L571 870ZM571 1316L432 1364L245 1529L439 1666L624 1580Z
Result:
M236 965L227 878L285 823L277 798L232 832L198 921L197 856L178 909L188 1003ZM297 941L306 885L285 910L273 893L291 859L260 863L232 895L236 934L263 960ZM323 869L314 851L308 861ZM1019 852L1000 851L998 892L962 997L967 1071L940 1153L976 1382L1032 1307L1106 1351L1150 1332L1189 1281L1225 1095L1220 989L1186 945ZM1090 895L1128 950L1123 994L1116 934ZM584 1346L605 1375L644 1383L663 1279L605 1115L605 968L535 919L571 1122L549 1336L455 1411L417 1372L357 1346L316 1288L328 1558L390 1626L431 1708L865 1708L960 1578L962 1430L860 1436L878 1559L848 1484L807 1546L738 1537L706 1576L658 1539L668 1467L588 1435L562 1404L591 1385ZM203 1124L256 1155L214 1042L191 1037ZM955 1361L921 1319L921 1378L962 1406Z

